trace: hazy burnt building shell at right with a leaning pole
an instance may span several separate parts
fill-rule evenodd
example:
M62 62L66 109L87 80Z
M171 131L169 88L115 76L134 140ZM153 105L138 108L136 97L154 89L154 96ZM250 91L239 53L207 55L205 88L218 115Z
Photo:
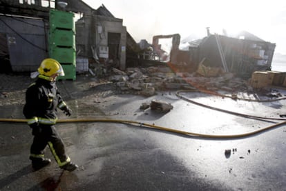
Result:
M244 39L240 39L242 36ZM198 46L198 61L204 59L204 66L223 68L247 79L254 71L271 70L275 47L275 43L248 32L240 32L237 38L209 34Z

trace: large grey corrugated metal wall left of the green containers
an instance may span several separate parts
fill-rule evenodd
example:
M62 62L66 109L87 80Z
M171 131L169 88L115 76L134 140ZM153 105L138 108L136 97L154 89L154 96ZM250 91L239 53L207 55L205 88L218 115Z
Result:
M0 33L6 34L13 72L33 72L48 57L44 20L0 15ZM1 64L0 64L1 68Z

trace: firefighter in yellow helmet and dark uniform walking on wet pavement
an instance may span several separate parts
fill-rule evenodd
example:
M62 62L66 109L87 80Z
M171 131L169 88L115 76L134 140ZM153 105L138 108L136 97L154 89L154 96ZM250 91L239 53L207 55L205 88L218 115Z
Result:
M38 68L38 76L26 90L26 104L23 114L28 119L34 136L30 147L32 168L39 170L50 164L51 160L44 158L46 145L50 148L59 168L73 171L78 166L70 161L66 154L64 142L55 128L57 109L70 116L72 110L61 99L56 86L58 76L64 76L64 70L55 59L44 59Z

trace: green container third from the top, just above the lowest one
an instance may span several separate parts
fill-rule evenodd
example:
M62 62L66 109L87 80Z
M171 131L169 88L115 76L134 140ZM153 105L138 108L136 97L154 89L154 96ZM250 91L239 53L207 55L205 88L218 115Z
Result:
M59 61L59 63L70 63L75 66L75 49L73 48L59 48L50 46L50 57Z

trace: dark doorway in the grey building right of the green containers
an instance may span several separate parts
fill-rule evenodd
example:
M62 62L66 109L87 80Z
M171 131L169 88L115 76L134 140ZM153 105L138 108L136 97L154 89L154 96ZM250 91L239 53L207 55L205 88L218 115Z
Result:
M118 68L120 63L120 33L108 32L108 59Z

